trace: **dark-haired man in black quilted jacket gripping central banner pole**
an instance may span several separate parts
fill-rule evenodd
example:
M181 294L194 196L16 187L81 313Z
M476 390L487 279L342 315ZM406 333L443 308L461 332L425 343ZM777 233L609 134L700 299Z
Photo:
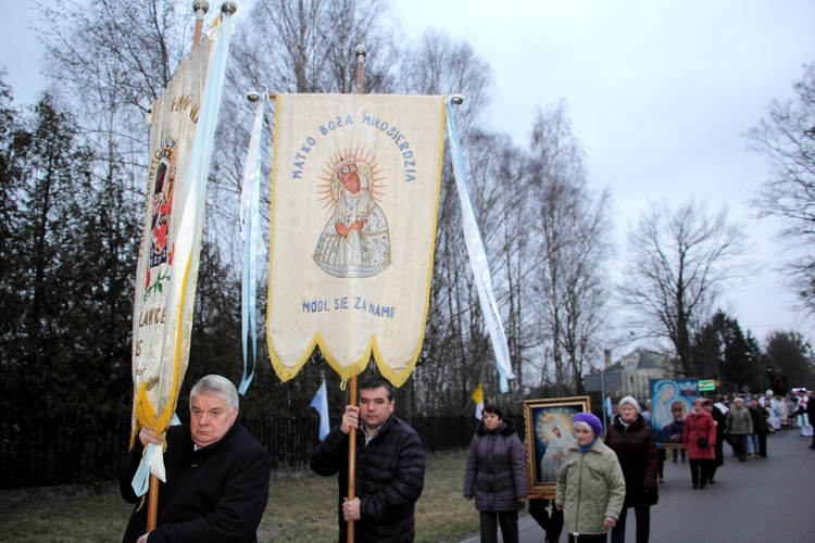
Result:
M425 452L418 434L393 415L393 387L378 375L360 384L360 405L346 406L342 421L311 455L321 476L339 472L339 541L355 521L358 542L412 542L413 515L425 484ZM349 432L356 432L355 497L348 496Z

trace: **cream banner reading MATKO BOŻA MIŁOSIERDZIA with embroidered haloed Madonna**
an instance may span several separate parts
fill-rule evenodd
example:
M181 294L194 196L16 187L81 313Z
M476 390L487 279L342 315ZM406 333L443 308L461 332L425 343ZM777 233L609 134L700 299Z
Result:
M315 346L343 380L402 384L429 303L443 97L278 94L267 342L281 380Z

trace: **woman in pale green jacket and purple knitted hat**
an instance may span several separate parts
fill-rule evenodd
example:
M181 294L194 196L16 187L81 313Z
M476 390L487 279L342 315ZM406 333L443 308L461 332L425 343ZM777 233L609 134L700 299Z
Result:
M603 425L591 413L575 415L576 442L566 449L554 503L563 509L569 543L604 543L619 518L626 482L614 451L600 440Z

